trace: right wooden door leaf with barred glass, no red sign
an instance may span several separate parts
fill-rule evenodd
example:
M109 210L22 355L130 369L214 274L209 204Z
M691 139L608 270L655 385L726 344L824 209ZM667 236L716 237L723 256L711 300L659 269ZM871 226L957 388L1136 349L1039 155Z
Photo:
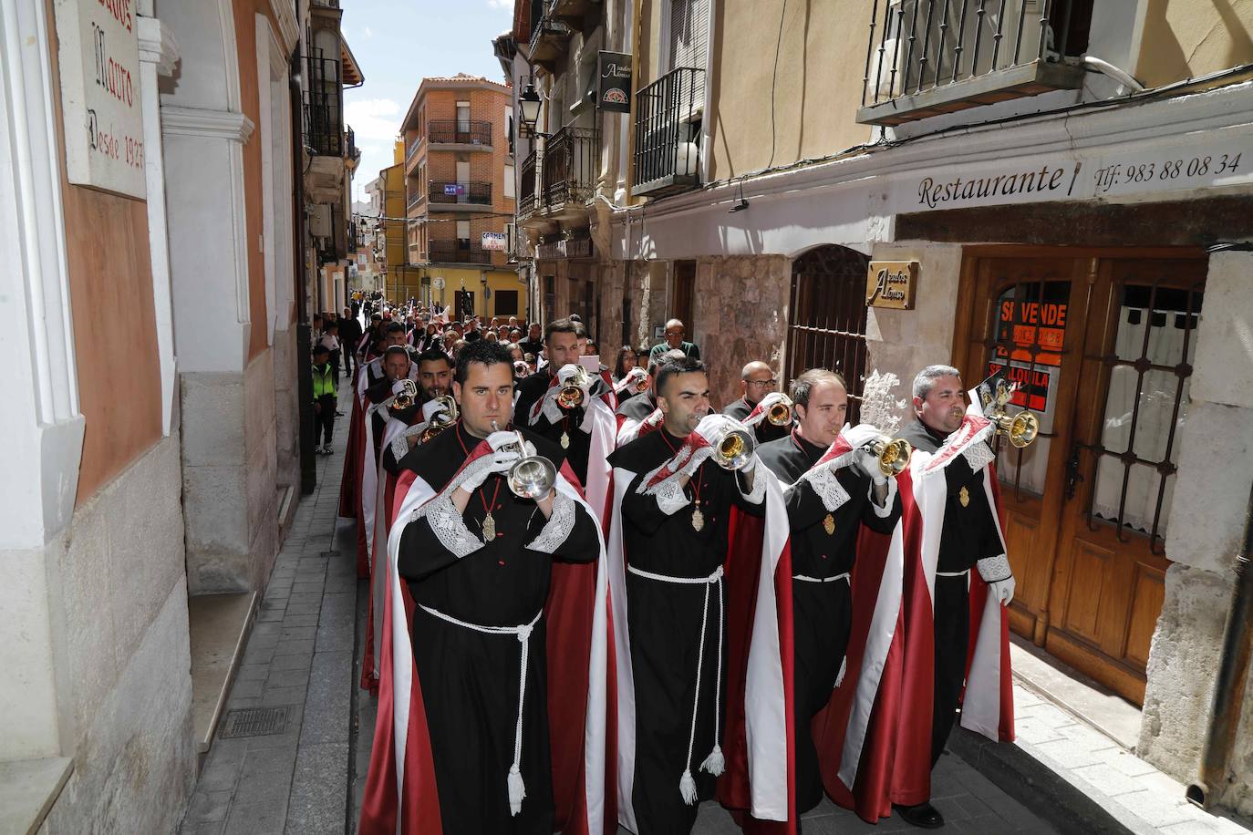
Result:
M1094 279L1045 647L1140 705L1205 262L1108 260Z

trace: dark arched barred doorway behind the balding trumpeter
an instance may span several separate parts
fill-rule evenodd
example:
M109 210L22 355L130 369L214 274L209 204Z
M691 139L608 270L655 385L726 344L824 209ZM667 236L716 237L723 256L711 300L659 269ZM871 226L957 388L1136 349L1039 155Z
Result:
M840 372L848 383L848 419L857 422L866 373L866 270L870 258L827 244L792 262L787 379L808 368Z

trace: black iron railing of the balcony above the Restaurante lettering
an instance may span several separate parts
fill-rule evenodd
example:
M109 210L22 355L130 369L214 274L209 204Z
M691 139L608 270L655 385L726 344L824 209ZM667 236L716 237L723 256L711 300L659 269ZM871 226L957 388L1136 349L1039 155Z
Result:
M1044 10L1045 0L888 0L875 21L871 89L882 101L1034 61ZM1056 59L1053 44L1046 25L1044 56Z

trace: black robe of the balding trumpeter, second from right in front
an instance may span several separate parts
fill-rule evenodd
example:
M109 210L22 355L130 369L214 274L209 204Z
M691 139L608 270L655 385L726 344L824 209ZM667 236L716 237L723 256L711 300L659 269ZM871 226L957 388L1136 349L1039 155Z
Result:
M791 489L783 493L791 530L792 575L836 577L852 571L857 560L861 526L891 533L901 518L901 497L895 496L891 512L880 516L870 498L871 479L852 467L836 472L848 493L848 501L831 513L832 533L823 525L827 507L808 481L809 471L827 451L799 438L794 432L762 446L762 463ZM862 601L873 606L875 601ZM792 581L793 699L796 702L796 804L804 812L822 801L822 774L813 745L811 722L826 707L848 647L852 627L852 586L832 582Z

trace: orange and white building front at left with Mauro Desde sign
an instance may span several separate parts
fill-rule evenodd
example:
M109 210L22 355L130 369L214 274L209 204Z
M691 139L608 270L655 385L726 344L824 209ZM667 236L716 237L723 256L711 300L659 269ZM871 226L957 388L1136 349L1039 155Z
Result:
M4 831L172 831L213 741L304 487L312 15L0 14Z

